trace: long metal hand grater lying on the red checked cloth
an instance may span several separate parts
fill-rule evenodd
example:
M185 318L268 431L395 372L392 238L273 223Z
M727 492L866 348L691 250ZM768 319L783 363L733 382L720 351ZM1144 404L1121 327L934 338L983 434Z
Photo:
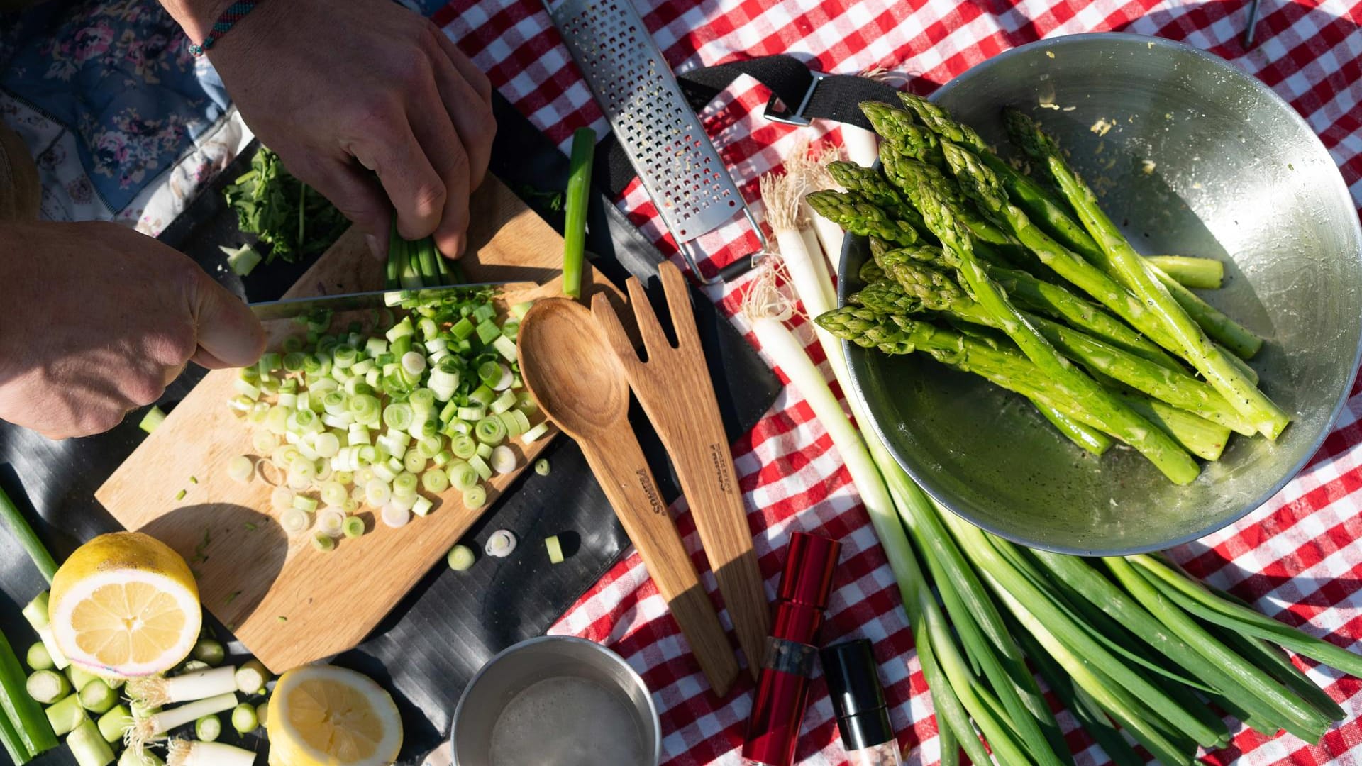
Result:
M696 279L712 285L750 269L765 251L765 234L633 4L564 0L548 10ZM706 278L688 243L738 211L752 224L761 251Z

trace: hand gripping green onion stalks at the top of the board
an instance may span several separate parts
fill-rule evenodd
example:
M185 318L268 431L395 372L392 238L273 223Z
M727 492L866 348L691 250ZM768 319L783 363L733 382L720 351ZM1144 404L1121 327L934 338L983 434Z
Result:
M376 256L394 209L403 237L433 233L441 252L463 254L496 134L492 86L433 23L392 0L274 0L208 57L251 129Z

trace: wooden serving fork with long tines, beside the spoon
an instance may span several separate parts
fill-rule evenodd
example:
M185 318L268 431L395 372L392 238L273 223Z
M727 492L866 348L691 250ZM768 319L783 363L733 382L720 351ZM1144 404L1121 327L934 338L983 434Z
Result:
M671 263L662 263L658 274L676 328L676 346L667 341L636 278L631 278L627 286L648 361L639 358L618 315L607 300L602 300L603 296L598 294L591 301L591 313L671 457L710 568L719 582L738 643L748 657L748 671L755 679L771 634L771 609L761 583L761 568L752 548L742 491L719 417L719 401L704 363L685 277Z

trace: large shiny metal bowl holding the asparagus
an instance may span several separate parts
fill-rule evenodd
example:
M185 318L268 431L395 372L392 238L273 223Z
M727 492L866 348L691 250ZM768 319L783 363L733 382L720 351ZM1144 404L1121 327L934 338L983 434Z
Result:
M1072 153L1139 251L1223 260L1226 286L1203 296L1268 339L1252 365L1294 423L1275 443L1233 438L1194 484L1174 487L1133 450L1083 453L1024 399L974 375L849 345L855 388L899 463L983 529L1080 555L1185 542L1282 489L1342 409L1362 335L1357 210L1309 125L1220 59L1132 34L1009 50L933 101L1004 154L1015 153L1000 110L1026 109ZM866 241L849 237L843 303L866 258Z

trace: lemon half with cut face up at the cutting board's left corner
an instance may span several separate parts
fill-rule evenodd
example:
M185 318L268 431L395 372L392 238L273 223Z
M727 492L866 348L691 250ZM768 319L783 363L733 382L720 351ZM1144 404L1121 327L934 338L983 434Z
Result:
M118 677L169 671L189 656L203 613L189 566L135 532L95 537L52 581L57 647L76 667Z

